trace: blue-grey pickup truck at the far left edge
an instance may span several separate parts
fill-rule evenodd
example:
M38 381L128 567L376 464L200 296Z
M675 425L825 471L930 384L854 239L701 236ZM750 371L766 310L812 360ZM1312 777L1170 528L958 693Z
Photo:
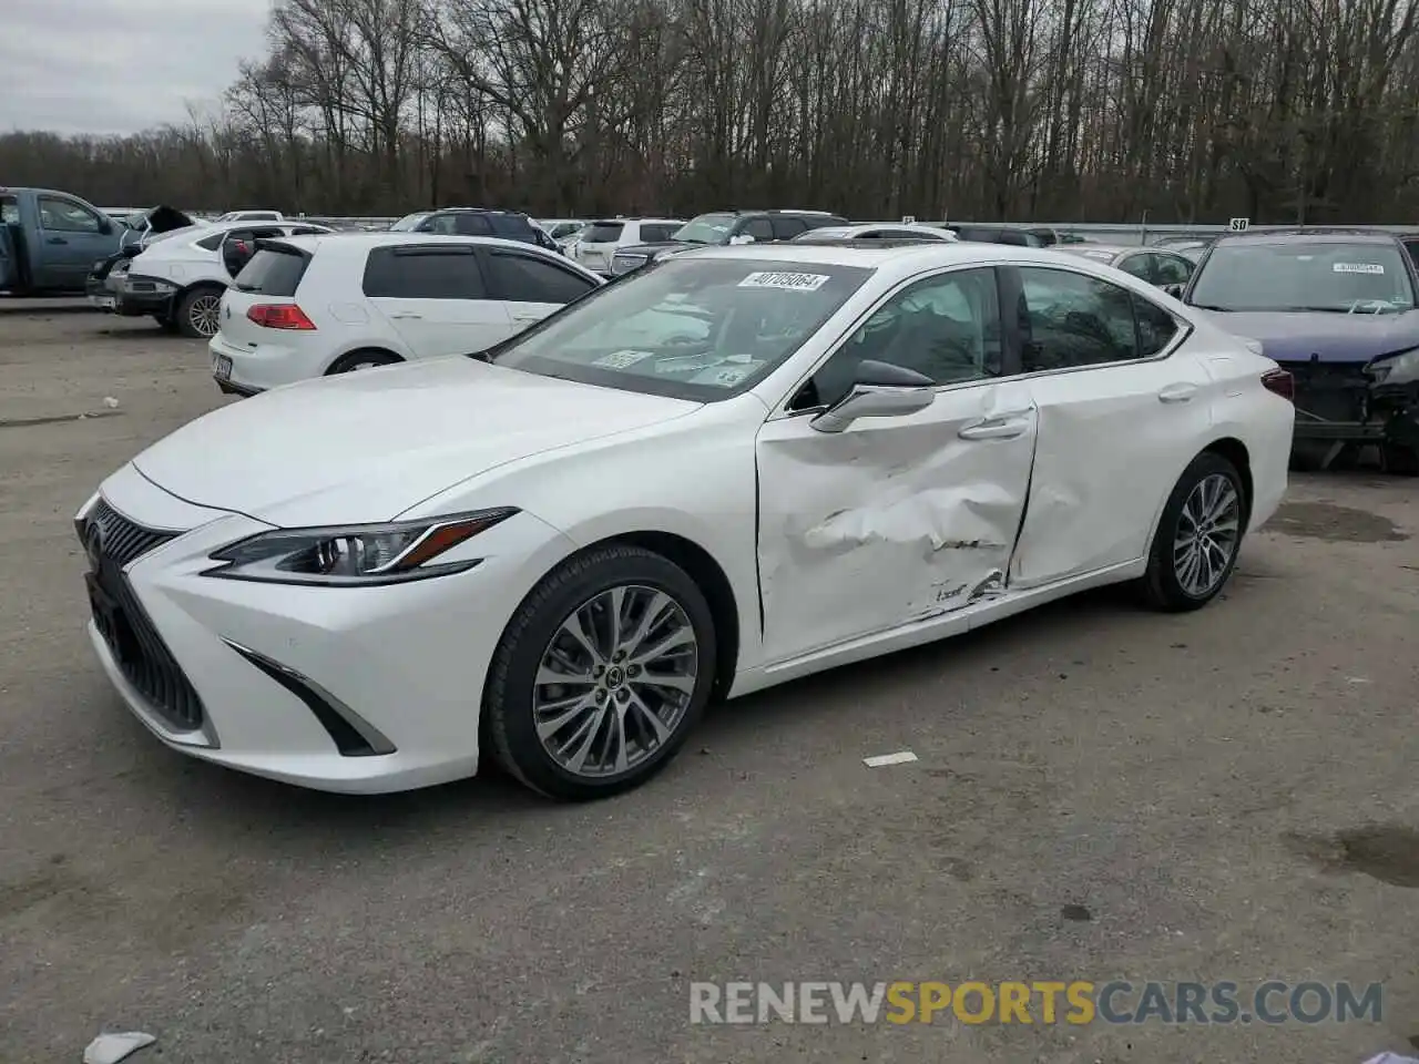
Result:
M94 262L118 251L128 227L78 196L0 187L0 291L84 291Z

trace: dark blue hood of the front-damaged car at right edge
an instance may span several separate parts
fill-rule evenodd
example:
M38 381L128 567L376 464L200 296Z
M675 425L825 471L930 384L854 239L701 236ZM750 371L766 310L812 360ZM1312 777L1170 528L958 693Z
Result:
M1369 362L1419 346L1419 311L1399 314L1220 312L1210 319L1260 340L1276 362Z

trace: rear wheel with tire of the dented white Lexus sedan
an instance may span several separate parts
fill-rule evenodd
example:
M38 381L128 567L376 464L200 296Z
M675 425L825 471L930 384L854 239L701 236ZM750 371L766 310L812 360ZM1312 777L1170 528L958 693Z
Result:
M1213 451L1192 460L1162 508L1148 552L1141 586L1149 606L1183 613L1218 596L1236 569L1247 502L1230 461Z

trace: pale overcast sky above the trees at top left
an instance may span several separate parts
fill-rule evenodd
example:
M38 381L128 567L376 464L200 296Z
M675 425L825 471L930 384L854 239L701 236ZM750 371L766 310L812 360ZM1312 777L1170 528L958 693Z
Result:
M216 105L270 0L0 0L0 131L133 133Z

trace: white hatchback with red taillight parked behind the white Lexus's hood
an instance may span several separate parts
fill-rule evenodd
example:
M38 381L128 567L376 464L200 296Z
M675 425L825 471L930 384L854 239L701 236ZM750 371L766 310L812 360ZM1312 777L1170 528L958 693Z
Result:
M209 345L223 392L485 350L599 288L589 270L492 237L263 240Z

